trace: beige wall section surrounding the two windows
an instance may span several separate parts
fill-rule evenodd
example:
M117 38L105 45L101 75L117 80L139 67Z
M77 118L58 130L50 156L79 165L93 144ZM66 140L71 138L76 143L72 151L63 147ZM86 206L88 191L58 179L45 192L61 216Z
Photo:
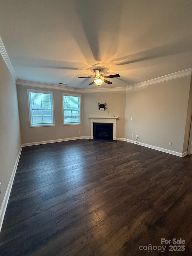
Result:
M54 114L55 114L55 126L44 126L44 127L30 127L29 126L29 108L27 89L51 91L53 92L54 99ZM20 115L20 127L22 143L33 143L46 140L59 140L71 137L83 136L83 95L81 95L81 125L63 125L63 113L62 113L62 92L61 90L28 87L28 86L17 86L18 103L19 103L19 115ZM74 94L66 92L66 94ZM80 134L79 134L80 131Z

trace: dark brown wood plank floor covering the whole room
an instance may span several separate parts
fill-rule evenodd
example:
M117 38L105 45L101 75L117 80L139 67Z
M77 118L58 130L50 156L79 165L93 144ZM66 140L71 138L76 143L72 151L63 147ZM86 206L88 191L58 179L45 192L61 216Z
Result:
M75 140L22 149L0 255L192 255L192 156Z

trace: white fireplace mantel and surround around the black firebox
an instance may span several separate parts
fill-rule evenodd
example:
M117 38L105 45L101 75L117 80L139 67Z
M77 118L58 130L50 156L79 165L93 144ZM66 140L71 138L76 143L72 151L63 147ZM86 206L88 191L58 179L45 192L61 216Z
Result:
M93 139L93 123L113 123L113 140L116 140L116 120L119 116L88 116L91 119L91 139Z

